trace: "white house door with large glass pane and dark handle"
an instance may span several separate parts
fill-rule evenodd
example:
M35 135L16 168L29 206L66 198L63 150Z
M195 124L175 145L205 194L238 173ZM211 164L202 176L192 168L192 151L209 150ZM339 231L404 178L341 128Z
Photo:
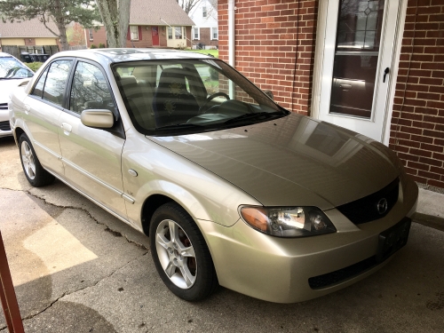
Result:
M383 141L398 0L329 0L318 117Z

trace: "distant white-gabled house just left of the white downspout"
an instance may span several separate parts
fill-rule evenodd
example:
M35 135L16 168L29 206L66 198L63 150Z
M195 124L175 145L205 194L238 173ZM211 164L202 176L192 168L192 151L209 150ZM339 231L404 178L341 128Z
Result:
M206 49L218 48L218 6L216 0L201 0L188 13L194 21L193 48L205 45Z

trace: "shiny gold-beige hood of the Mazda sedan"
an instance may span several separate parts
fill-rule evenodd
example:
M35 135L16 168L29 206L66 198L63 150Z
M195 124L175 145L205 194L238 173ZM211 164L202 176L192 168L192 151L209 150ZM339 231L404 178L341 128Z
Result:
M297 114L235 129L148 139L265 206L327 210L377 192L401 167L377 141Z

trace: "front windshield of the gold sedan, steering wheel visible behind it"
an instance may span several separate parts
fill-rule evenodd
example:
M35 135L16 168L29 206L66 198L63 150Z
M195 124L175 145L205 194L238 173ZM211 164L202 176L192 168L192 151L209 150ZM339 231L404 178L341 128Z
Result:
M131 120L148 135L215 131L289 112L218 59L171 59L113 67Z

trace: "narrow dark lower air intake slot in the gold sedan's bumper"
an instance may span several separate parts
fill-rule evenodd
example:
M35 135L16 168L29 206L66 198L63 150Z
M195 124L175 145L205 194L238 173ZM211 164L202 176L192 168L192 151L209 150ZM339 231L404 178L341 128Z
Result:
M339 269L335 272L314 276L308 279L308 284L310 285L311 289L325 288L337 282L345 281L353 278L354 276L362 274L373 266L377 266L376 256L364 259L359 263Z

